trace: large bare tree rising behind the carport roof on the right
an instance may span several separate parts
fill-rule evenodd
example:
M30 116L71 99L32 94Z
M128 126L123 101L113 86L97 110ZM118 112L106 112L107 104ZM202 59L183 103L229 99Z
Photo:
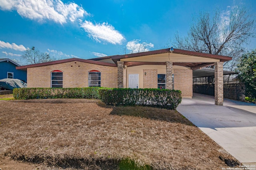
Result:
M238 6L226 13L215 12L212 18L208 12L201 12L193 20L188 35L180 37L176 33L172 43L179 49L233 57L224 68L234 70L246 50L244 45L250 37L255 37L254 24L254 17Z

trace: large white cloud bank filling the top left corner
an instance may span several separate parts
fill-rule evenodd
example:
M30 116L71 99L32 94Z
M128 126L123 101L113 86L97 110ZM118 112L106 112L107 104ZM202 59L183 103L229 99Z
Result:
M31 20L48 19L61 24L89 15L82 6L60 0L0 0L0 9L17 10L20 16Z

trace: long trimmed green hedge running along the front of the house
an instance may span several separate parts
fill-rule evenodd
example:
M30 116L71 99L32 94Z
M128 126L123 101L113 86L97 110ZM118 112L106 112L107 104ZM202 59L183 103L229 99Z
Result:
M14 88L15 99L86 98L100 99L112 106L150 106L176 109L182 97L180 90L134 88Z

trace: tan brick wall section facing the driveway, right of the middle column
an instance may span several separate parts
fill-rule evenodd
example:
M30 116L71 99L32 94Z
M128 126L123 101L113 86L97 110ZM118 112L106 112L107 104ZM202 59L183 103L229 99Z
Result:
M180 90L182 96L193 96L193 74L189 69L175 69L174 70L174 89Z

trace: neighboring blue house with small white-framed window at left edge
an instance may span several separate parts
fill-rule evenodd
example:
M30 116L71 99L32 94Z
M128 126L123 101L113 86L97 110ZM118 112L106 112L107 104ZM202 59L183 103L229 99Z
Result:
M10 59L0 59L0 79L15 78L27 82L27 72L16 70L16 66L20 66L20 64Z

